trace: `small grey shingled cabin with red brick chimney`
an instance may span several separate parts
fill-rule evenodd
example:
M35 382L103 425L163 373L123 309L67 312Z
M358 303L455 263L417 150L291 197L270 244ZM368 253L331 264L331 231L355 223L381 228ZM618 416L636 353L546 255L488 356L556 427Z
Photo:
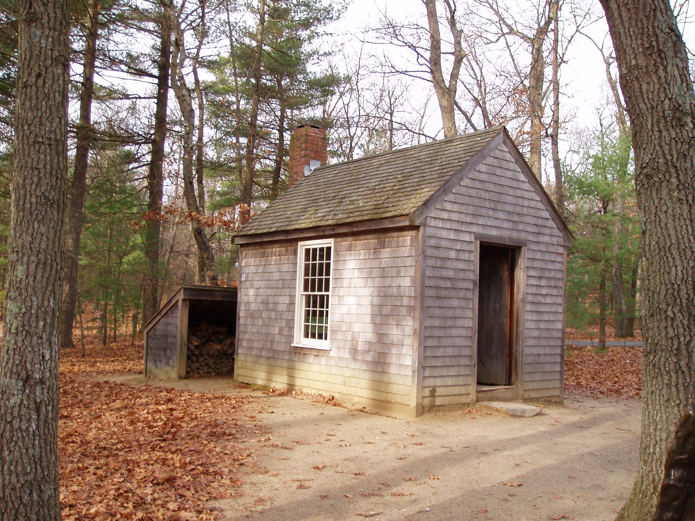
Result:
M507 131L324 162L297 129L236 233L235 378L410 416L561 401L572 236Z

